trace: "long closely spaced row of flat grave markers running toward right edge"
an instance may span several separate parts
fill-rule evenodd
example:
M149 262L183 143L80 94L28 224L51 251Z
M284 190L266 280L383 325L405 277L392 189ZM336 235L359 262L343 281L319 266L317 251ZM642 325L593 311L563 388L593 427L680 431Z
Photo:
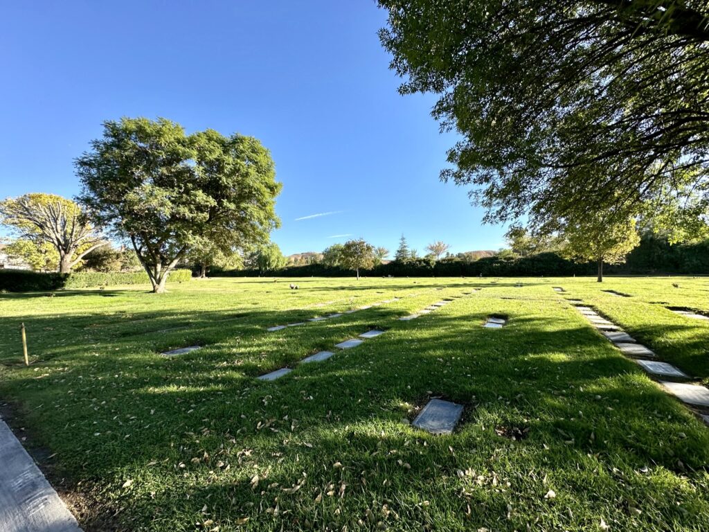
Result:
M584 306L580 299L568 299L577 311L583 314L598 331L608 338L610 342L618 348L624 355L631 356L645 372L655 377L671 377L674 379L690 379L686 373L668 362L657 360L657 354L632 338L615 325L615 323L603 318L589 306ZM687 384L686 382L674 382L659 380L671 394L689 406L709 408L709 389L698 384ZM705 423L709 424L709 415L697 412Z

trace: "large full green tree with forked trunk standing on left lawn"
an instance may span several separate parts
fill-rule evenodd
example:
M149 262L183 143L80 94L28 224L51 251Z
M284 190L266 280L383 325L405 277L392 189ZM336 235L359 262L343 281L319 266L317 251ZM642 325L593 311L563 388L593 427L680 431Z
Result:
M104 122L76 161L96 222L130 240L153 292L193 246L227 253L268 240L279 225L274 162L255 138L208 129L186 135L160 118Z

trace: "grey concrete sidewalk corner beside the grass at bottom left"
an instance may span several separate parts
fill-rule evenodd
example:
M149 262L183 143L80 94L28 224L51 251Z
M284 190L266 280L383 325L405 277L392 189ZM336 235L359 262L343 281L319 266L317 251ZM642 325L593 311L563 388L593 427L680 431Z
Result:
M2 419L0 531L81 532L77 520Z

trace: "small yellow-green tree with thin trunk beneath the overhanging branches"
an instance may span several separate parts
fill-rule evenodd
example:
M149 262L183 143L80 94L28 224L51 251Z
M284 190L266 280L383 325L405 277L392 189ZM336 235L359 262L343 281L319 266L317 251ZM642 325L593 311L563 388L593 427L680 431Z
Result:
M581 221L567 223L563 236L566 240L564 255L580 262L595 261L598 265L598 282L603 282L603 262L622 264L625 257L638 244L633 218L608 223L603 214Z

